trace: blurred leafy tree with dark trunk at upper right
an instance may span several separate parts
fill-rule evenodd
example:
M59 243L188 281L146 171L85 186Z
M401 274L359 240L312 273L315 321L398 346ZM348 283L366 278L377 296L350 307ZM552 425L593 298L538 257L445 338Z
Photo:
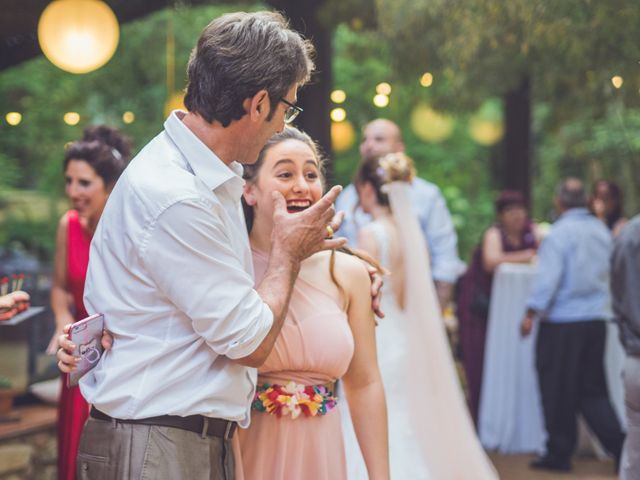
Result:
M602 118L614 89L638 104L640 10L633 0L376 0L380 30L399 71L447 80L440 105L466 109L505 98L502 185L528 190L532 102L553 104L548 121ZM585 112L584 106L590 110ZM514 168L514 166L516 168Z

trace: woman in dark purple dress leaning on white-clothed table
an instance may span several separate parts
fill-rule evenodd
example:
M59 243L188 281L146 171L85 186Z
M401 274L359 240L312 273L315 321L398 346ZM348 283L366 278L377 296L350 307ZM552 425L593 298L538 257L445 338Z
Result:
M527 263L536 254L538 238L520 192L504 191L495 203L497 221L484 233L471 264L458 282L457 316L469 410L478 423L480 388L493 272L501 263Z

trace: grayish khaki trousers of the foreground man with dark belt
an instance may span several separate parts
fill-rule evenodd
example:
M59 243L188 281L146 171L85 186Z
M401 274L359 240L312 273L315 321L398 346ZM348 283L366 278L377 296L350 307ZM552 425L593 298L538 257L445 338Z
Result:
M231 440L89 417L78 448L80 480L233 480Z

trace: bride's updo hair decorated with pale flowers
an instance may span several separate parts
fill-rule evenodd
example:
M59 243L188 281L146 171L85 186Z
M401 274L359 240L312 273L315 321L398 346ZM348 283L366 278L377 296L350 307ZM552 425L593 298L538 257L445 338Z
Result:
M402 152L388 153L362 162L353 183L370 183L376 192L376 200L386 207L389 206L389 198L382 187L391 182L411 182L415 176L416 167L409 156Z

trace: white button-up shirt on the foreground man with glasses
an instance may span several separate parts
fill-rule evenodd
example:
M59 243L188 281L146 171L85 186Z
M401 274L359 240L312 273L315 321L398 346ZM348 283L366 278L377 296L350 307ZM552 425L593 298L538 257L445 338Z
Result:
M254 289L240 205L225 165L173 112L111 193L91 243L84 302L113 348L80 382L117 418L193 415L249 423L252 353L273 314Z

